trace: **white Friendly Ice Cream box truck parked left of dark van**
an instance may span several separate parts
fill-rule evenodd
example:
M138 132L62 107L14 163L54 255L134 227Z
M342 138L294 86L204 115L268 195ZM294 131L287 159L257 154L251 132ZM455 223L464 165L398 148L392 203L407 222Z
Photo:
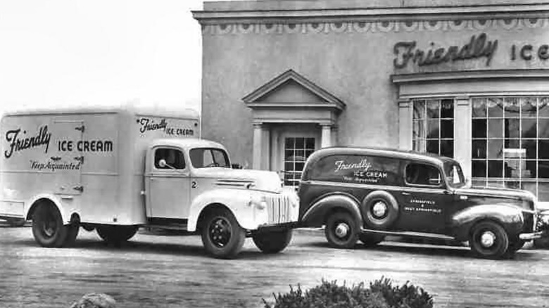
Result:
M275 172L232 169L220 143L198 138L194 111L8 113L0 129L0 218L32 220L44 247L71 245L80 227L114 243L141 226L200 233L222 258L246 237L267 253L291 240L295 191Z

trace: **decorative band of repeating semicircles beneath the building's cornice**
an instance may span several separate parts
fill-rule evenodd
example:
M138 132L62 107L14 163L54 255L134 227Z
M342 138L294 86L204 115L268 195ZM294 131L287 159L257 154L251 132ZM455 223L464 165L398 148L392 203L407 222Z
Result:
M335 21L330 23L238 23L202 25L205 35L215 34L315 34L343 32L423 32L423 31L484 31L488 29L517 30L549 27L549 18L503 18L481 20L382 20Z

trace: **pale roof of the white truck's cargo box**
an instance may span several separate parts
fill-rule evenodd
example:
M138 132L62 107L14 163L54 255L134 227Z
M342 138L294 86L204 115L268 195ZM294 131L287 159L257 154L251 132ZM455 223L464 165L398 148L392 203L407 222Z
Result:
M93 114L93 113L126 113L128 115L151 115L158 117L177 117L198 119L198 112L191 108L158 108L132 105L113 106L85 106L85 107L61 107L61 108L36 108L29 110L17 110L4 113L6 116L23 115L66 115L66 114Z

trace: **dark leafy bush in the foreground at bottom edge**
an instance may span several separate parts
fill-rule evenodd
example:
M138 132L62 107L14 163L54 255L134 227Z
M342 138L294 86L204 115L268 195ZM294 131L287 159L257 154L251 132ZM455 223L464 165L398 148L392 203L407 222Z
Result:
M290 292L274 296L274 304L263 299L265 308L431 308L433 298L429 293L411 283L393 285L389 278L348 287L336 281L324 281L315 288L303 292L301 285Z

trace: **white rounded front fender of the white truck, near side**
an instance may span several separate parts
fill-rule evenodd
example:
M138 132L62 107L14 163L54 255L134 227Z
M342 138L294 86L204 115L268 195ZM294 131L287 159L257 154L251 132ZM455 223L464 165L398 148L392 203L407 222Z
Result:
M191 208L189 209L187 231L196 231L201 213L210 205L227 207L242 228L247 230L258 229L261 224L268 222L268 216L266 210L258 210L255 206L251 205L250 200L254 194L260 196L263 192L220 188L198 195L192 201Z

